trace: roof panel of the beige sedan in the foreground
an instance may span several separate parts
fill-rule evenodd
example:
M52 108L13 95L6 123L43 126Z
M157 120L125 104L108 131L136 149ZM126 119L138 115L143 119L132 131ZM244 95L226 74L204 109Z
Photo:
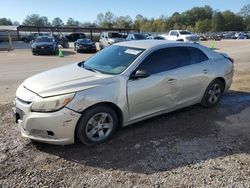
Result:
M126 42L119 42L114 45L150 49L156 46L168 45L168 44L174 45L174 44L180 44L180 43L183 43L183 42L170 41L170 40L133 40L133 41L126 41Z

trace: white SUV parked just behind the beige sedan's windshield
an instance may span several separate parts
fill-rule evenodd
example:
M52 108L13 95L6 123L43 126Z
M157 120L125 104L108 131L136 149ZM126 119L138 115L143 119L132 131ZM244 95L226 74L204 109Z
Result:
M124 41L123 35L119 32L102 32L99 40L99 47L103 49L114 43Z

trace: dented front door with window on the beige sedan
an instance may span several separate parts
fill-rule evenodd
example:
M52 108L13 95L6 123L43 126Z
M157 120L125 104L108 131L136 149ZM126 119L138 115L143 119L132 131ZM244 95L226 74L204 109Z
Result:
M178 79L169 64L171 50L164 48L152 52L136 68L150 75L146 78L130 78L127 96L130 120L136 120L157 112L171 110L176 105L179 92ZM170 66L169 66L170 65Z

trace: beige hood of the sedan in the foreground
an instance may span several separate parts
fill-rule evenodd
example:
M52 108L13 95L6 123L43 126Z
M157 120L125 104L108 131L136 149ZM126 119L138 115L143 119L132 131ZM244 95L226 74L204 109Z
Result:
M25 80L23 86L41 97L49 97L107 85L113 77L86 70L75 63L34 75Z

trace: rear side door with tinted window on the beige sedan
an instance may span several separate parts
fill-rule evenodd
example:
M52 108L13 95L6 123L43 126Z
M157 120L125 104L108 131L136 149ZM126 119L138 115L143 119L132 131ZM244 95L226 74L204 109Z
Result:
M200 102L206 87L211 81L210 59L199 48L175 47L178 56L178 75L180 93L177 106L186 106Z

